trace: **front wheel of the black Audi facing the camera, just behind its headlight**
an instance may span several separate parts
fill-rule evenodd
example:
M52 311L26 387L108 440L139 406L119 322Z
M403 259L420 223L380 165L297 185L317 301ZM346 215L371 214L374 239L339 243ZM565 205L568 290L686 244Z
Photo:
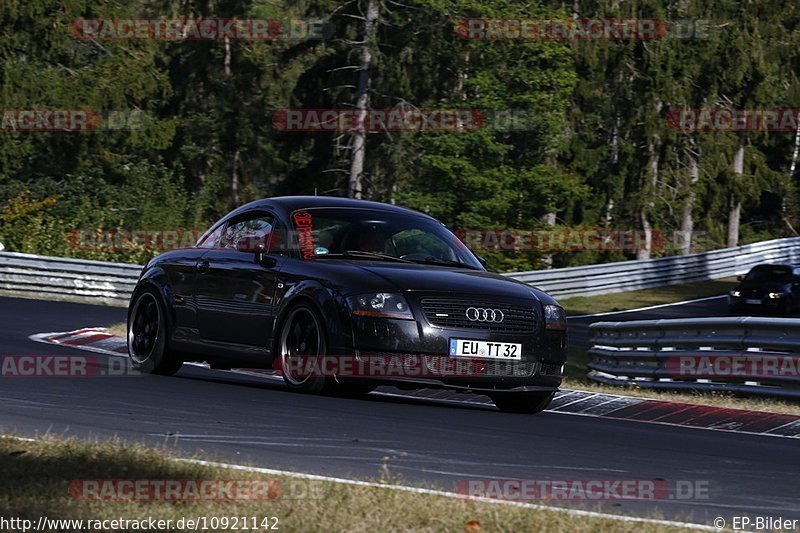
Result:
M286 315L278 337L278 359L283 381L289 390L320 394L333 388L333 380L303 372L311 356L325 355L325 328L316 309L309 304L297 304ZM298 372L298 367L300 372ZM312 367L313 369L313 367Z

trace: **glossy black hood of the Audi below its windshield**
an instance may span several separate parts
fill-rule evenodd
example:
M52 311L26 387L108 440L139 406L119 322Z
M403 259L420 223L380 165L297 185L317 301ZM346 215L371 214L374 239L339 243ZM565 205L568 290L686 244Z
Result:
M398 263L353 262L350 267L358 279L358 283L350 287L357 286L358 290L363 288L364 291L419 291L490 298L550 299L530 285L491 272ZM349 292L357 291L351 289Z

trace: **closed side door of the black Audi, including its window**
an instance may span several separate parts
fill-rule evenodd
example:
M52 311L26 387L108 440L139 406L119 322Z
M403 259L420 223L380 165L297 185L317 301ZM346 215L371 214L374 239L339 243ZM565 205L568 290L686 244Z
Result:
M197 263L197 323L204 340L270 347L280 256L268 252L271 213L250 212L225 224L219 247Z

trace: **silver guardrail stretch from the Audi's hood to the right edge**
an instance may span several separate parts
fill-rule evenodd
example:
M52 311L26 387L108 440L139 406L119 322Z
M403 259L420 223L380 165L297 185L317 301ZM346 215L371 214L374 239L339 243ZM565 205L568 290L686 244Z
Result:
M800 237L697 254L553 270L512 272L552 296L593 296L744 274L759 263L800 263Z

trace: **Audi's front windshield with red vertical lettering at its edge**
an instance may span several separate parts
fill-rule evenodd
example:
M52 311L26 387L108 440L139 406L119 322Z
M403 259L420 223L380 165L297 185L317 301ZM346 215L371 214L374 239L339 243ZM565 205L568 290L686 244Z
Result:
M422 216L324 207L295 211L292 220L306 258L359 255L376 260L455 263L483 270L473 253L450 230Z

